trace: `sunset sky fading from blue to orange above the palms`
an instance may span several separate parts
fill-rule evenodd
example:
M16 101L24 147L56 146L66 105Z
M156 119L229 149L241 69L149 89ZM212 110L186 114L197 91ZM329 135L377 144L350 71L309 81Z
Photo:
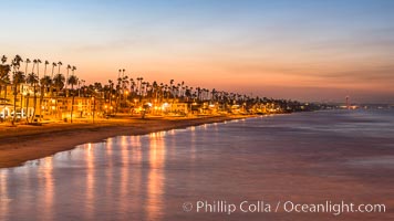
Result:
M62 61L87 83L107 83L125 69L132 78L252 96L394 104L391 0L0 0L0 55Z

